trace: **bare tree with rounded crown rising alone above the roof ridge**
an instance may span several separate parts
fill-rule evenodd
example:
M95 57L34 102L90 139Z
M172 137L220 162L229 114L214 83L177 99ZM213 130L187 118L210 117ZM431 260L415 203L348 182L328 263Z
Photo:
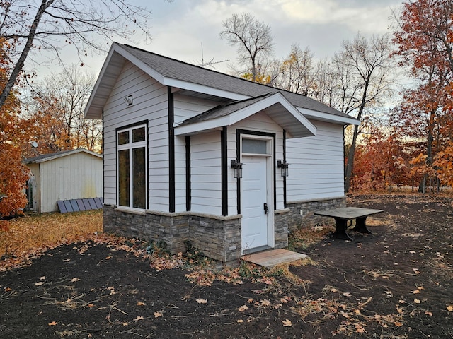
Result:
M256 81L260 62L274 51L270 26L256 20L251 13L233 14L222 25L220 37L237 47L239 64L246 66L246 73L251 73L252 81Z

